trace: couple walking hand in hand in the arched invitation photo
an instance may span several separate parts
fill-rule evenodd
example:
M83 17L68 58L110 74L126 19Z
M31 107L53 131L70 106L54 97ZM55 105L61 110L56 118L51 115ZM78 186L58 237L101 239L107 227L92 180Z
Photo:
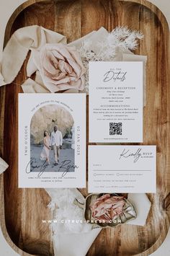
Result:
M57 125L54 125L53 132L50 134L44 131L44 146L40 154L41 160L46 160L50 164L50 149L54 152L54 165L59 162L60 151L63 145L63 136L61 131L58 130Z

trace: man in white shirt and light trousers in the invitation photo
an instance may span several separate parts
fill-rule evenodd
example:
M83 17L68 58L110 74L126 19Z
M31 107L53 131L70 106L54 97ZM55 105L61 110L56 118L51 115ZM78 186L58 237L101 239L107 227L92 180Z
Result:
M53 146L55 164L59 162L60 151L63 145L63 136L61 131L58 130L57 125L54 125L54 131L51 133L50 146Z

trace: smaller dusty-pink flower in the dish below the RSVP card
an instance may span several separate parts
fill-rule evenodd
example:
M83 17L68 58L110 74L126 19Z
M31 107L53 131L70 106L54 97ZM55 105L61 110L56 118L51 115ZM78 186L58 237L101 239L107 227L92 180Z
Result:
M97 221L109 223L123 212L123 206L125 206L123 196L105 194L91 204L91 215Z

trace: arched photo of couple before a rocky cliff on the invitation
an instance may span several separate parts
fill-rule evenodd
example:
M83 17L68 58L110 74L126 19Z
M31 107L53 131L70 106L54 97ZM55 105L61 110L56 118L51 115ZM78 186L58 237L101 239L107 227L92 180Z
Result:
M74 121L68 110L58 105L41 107L32 116L30 129L32 172L42 168L60 172L63 162L74 164Z

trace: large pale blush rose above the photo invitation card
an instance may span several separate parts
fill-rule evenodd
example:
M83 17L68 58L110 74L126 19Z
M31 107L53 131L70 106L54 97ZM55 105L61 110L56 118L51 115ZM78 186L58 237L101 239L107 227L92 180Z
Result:
M50 92L84 89L86 69L76 48L61 43L46 44L35 53L34 60Z

